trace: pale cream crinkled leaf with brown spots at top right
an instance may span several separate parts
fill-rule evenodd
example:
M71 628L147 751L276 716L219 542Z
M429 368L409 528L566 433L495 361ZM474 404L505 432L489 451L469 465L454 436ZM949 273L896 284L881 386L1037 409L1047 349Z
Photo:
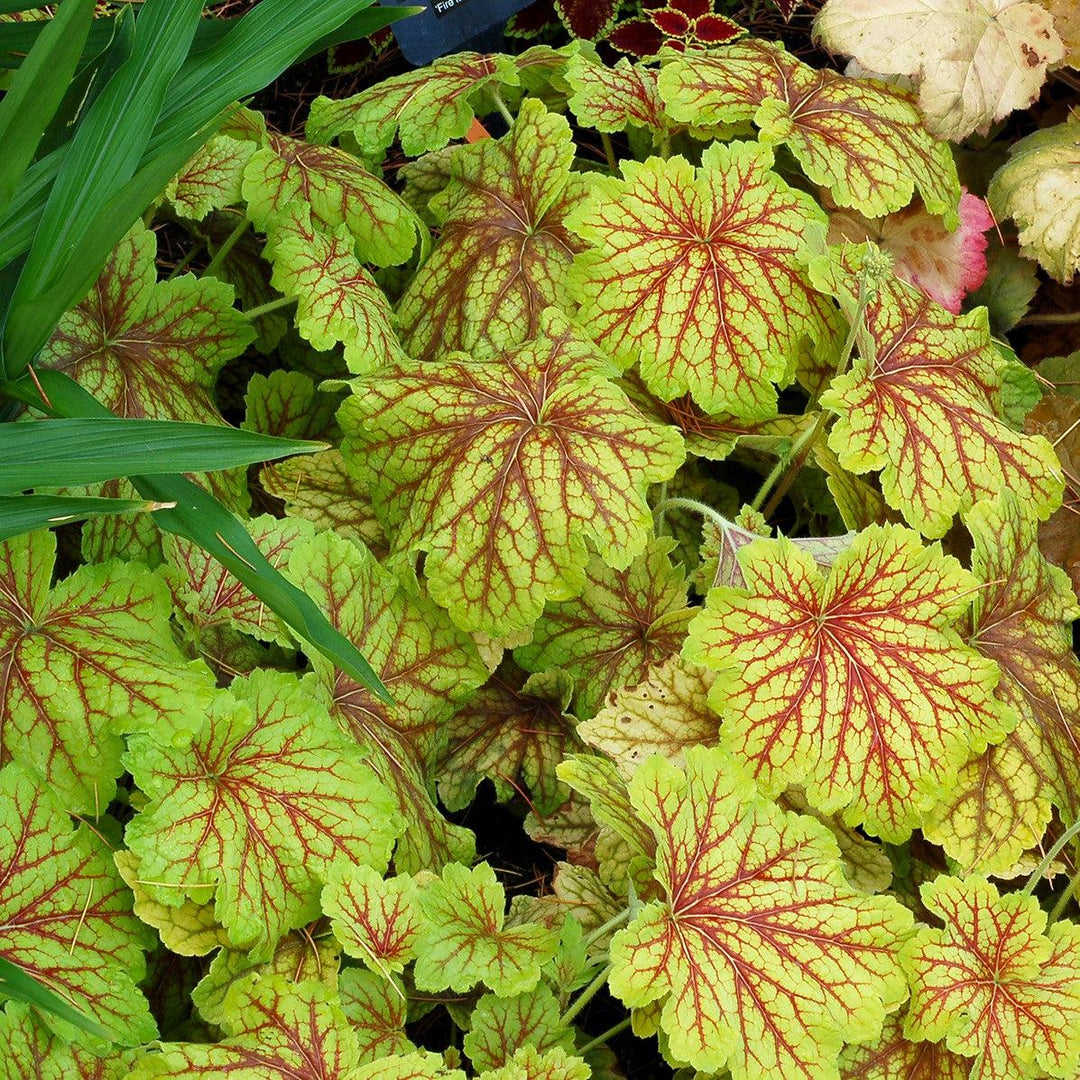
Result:
M913 76L929 126L957 140L1030 105L1065 55L1053 16L1025 0L828 0L814 33L870 71Z

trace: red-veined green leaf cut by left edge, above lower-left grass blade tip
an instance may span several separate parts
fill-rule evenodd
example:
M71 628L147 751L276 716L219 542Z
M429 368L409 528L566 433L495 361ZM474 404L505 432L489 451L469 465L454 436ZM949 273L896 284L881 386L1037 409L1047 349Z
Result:
M150 933L108 850L18 765L0 771L0 957L134 1047L157 1035L136 987Z

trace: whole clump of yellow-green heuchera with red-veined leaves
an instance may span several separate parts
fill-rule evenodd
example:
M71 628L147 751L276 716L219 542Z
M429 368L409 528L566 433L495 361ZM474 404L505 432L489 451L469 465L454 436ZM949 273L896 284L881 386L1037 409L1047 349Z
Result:
M200 276L140 224L38 364L326 443L215 490L393 703L151 523L0 544L0 957L111 1039L9 1002L4 1075L1080 1077L1077 424L919 70L537 45L234 111L158 212ZM989 192L1059 276L1070 132Z

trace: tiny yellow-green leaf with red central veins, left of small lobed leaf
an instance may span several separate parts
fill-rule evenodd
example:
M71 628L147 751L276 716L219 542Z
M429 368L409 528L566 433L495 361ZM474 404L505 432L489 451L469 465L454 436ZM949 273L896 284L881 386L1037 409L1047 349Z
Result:
M370 866L339 863L327 876L322 906L346 953L383 977L416 955L423 920L410 877L383 879Z

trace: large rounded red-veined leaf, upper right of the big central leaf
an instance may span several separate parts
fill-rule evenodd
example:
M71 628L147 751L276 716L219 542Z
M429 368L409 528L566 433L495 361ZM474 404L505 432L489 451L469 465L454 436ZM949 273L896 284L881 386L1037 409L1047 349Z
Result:
M592 175L569 220L592 244L573 291L582 321L664 401L687 391L708 413L775 413L806 338L836 336L804 269L805 233L824 214L772 171L772 151L716 143L684 158L624 161Z

